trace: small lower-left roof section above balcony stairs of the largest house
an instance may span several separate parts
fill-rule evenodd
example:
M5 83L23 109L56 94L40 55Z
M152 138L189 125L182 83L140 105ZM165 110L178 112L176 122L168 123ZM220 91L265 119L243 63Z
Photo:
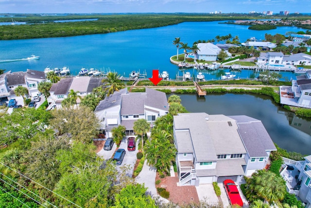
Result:
M193 153L192 141L189 130L175 131L176 145L179 153Z

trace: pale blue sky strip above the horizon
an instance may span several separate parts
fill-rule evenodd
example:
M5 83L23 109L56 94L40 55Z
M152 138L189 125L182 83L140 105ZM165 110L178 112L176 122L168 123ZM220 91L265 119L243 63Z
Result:
M310 13L311 0L0 0L0 13Z

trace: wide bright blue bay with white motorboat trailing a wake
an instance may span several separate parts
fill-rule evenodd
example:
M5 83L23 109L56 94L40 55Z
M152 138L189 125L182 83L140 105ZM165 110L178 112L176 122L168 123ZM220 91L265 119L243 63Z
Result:
M39 56L40 59L0 63L1 69L26 71L26 69L44 70L46 67L61 68L68 66L71 74L77 75L82 67L117 71L128 76L131 71L146 71L151 77L152 70L167 71L171 78L179 72L176 65L170 63L170 57L176 55L173 40L192 46L194 41L207 40L215 36L231 34L239 36L241 42L250 37L263 39L265 33L275 35L288 31L305 31L297 27L278 27L275 30L248 30L245 25L219 24L214 22L184 22L166 27L130 30L124 32L87 35L66 38L38 38L25 40L0 40L0 60ZM222 21L224 22L224 21ZM179 54L183 53L179 50ZM206 79L220 79L228 70L203 71ZM195 75L195 70L189 70ZM236 77L256 77L249 70L233 72ZM294 78L291 72L281 72L283 79Z

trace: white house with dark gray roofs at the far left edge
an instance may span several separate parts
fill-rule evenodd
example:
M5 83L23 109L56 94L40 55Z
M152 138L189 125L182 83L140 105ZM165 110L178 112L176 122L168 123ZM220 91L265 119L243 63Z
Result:
M17 98L14 89L18 86L27 88L29 96L40 95L38 84L46 81L44 72L27 69L26 72L6 72L0 75L0 98L10 100Z

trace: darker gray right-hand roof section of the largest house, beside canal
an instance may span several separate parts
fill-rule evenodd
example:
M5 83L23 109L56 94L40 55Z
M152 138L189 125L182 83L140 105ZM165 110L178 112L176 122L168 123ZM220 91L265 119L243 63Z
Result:
M276 146L260 120L246 115L229 117L237 121L238 132L250 157L266 157L266 151L276 151Z

